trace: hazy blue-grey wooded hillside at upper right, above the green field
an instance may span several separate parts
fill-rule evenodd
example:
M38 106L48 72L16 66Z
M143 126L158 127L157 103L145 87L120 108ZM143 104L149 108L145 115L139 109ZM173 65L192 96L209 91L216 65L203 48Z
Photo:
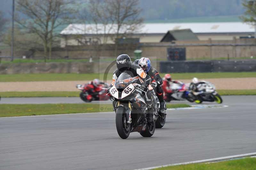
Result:
M244 12L242 0L140 0L140 6L146 21L239 16ZM230 17L226 19L229 21Z

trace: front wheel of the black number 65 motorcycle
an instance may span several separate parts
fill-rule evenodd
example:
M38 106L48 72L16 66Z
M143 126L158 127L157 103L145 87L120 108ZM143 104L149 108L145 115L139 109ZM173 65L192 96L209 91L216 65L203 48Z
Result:
M122 139L126 139L131 132L131 124L127 123L124 107L116 108L116 130Z

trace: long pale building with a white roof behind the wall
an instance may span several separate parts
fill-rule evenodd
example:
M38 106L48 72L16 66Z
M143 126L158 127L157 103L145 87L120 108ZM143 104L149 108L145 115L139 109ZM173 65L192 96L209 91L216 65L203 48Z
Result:
M125 27L125 26L124 26ZM115 42L116 25L102 24L70 24L60 32L61 47L66 45L83 45L93 43ZM233 37L247 37L254 34L254 26L242 22L210 22L210 23L144 23L140 29L131 33L121 29L120 34L126 33L127 38L139 38L140 43L160 42L169 31L178 35L178 30L190 29L199 40L232 40ZM177 32L176 32L177 31ZM169 32L170 33L170 32ZM184 32L184 34L188 32ZM192 35L189 33L189 35ZM182 37L182 33L179 34ZM182 40L186 40L183 36ZM123 37L126 38L126 37ZM185 39L184 39L185 38Z

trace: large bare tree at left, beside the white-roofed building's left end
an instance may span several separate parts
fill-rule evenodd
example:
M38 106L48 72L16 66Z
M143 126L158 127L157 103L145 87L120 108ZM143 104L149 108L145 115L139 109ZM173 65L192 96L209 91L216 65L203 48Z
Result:
M70 0L17 0L18 14L24 14L26 19L16 18L15 21L28 33L38 35L44 45L44 59L51 59L52 43L59 33L56 28L66 25L73 19L76 12L71 7ZM74 21L74 20L73 20ZM48 53L49 49L49 53Z

